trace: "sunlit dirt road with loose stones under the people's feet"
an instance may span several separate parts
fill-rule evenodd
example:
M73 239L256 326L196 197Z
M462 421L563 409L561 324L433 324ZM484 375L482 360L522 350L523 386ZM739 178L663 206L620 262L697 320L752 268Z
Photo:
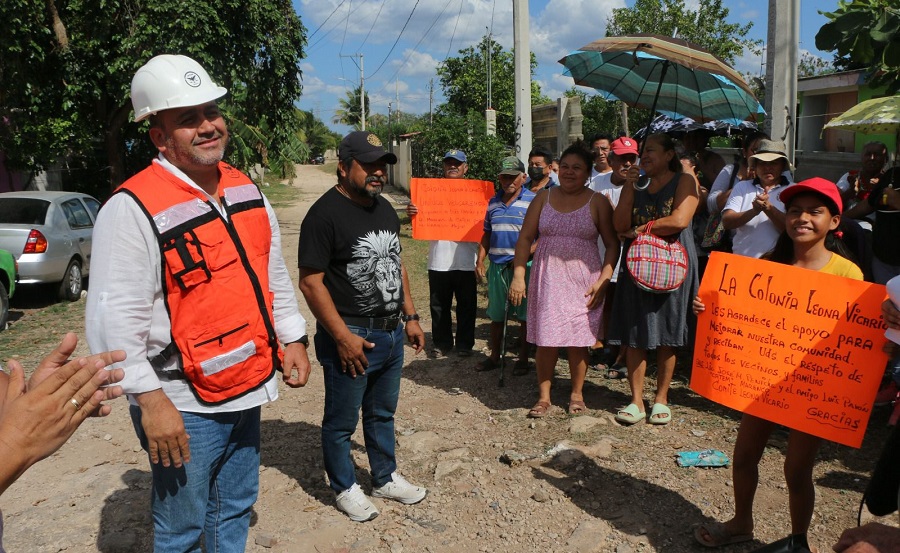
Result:
M302 201L278 209L295 282L300 221L334 180L316 167L299 169L294 185ZM423 259L406 262L424 265ZM426 314L427 290L414 294L419 313ZM428 321L424 326L427 332ZM484 347L487 328L480 319L476 349ZM313 360L306 388L283 387L279 401L263 409L260 497L247 550L678 553L701 549L692 524L730 516L730 469L679 468L675 454L716 448L730 455L738 418L691 392L684 378L673 385L674 420L667 427L613 422L614 410L627 403L626 384L593 373L585 387L587 416L570 418L554 407L535 422L525 417L535 398L533 375L509 376L498 388L496 372L472 370L478 359L409 355L397 453L404 475L430 494L409 507L376 499L381 516L365 524L335 509L325 483L319 447L324 391ZM561 361L554 403L565 405L568 395ZM821 550L830 550L842 529L855 525L888 414L874 414L862 449L823 448L810 533ZM750 551L789 533L784 438L772 440L760 465L757 540L731 551ZM362 444L357 433L353 455L369 492ZM150 551L149 486L146 455L127 404L119 400L112 415L88 421L0 498L4 544L10 553Z

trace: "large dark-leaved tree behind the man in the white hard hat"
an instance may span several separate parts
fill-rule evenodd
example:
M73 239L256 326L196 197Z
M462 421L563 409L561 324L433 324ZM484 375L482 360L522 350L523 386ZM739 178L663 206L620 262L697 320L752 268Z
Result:
M0 149L18 167L64 158L108 186L145 166L152 149L128 124L129 89L160 53L199 61L229 89L237 132L265 132L265 152L251 146L236 164L292 155L306 31L289 0L7 0L0 19Z

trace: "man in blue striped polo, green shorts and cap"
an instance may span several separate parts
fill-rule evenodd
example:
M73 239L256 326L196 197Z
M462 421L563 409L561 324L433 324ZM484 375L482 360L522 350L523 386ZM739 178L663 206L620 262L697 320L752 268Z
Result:
M515 156L503 158L498 179L500 190L488 203L484 236L478 248L478 262L475 264L478 279L483 279L485 275L488 279L487 315L491 320L491 355L478 365L476 370L479 371L496 369L500 363L500 340L503 338L503 323L507 313L507 295L512 281L516 240L519 239L528 205L535 196L534 192L522 187L525 182L525 165ZM484 266L485 256L491 262L487 270ZM528 280L527 276L525 280ZM510 305L508 308L521 323L519 360L513 373L524 374L528 370L528 342L525 340L527 302L523 301L519 306Z

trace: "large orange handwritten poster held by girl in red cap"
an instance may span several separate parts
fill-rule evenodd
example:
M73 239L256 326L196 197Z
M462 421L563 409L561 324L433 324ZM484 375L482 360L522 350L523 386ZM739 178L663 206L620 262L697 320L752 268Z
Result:
M727 407L862 444L887 355L884 286L713 253L691 388Z

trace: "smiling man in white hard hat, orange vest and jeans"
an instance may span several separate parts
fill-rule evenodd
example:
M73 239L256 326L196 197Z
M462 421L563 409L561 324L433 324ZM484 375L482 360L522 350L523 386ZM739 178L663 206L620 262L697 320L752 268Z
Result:
M244 551L259 487L260 406L275 372L306 384L306 321L275 213L222 162L227 91L196 61L161 55L131 83L159 156L94 227L93 351L125 350L123 390L153 473L154 550ZM282 347L282 344L284 345Z

